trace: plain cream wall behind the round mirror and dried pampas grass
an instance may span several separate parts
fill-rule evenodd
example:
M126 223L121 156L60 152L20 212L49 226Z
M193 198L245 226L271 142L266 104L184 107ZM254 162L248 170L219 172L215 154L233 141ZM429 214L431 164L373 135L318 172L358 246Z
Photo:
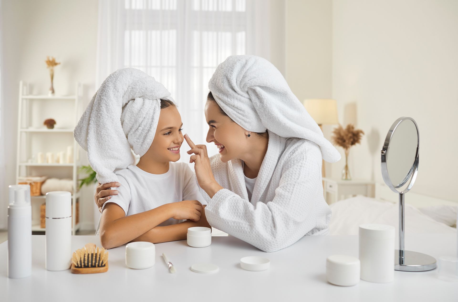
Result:
M352 176L383 182L383 140L410 116L420 129L412 191L458 201L458 1L333 1L332 62L340 122L365 131L350 150Z

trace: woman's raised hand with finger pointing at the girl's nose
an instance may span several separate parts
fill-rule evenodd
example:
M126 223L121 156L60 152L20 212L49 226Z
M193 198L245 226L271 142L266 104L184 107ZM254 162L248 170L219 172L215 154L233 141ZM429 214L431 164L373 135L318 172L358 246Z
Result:
M187 134L185 134L185 140L189 147L191 147L191 150L189 150L187 154L194 154L191 155L189 162L194 163L197 182L199 183L199 186L207 192L208 196L212 198L213 195L223 187L216 182L213 176L210 159L207 154L207 146L195 145Z

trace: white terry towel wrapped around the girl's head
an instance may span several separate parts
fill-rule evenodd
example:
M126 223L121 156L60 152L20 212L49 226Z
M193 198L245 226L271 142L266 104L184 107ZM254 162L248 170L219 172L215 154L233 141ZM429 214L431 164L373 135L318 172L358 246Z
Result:
M87 105L73 136L87 151L100 183L118 181L115 169L134 164L156 133L161 99L173 101L154 77L135 68L114 71Z

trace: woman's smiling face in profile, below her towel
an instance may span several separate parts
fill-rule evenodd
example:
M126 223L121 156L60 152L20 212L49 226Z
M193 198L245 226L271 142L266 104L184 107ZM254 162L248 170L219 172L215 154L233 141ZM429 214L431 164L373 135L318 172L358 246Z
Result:
M222 162L240 158L245 151L245 129L221 114L218 104L213 100L207 100L205 104L205 118L209 126L207 143L215 143L219 149Z

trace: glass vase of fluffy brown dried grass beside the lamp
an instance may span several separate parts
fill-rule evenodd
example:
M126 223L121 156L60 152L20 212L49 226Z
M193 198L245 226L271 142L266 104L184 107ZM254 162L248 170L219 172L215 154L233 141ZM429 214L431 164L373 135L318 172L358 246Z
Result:
M351 180L350 170L348 168L348 154L350 147L361 143L361 137L364 132L361 129L355 129L354 125L348 124L345 128L339 125L333 130L333 142L345 150L345 167L342 170L342 179Z

